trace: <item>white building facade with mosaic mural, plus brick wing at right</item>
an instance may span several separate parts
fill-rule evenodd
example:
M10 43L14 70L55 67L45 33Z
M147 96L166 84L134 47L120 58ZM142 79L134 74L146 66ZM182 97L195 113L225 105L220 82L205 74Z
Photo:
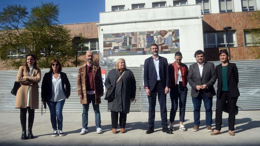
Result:
M110 66L118 58L127 65L139 66L149 57L151 43L159 44L159 53L173 62L176 51L183 62L194 62L196 50L204 50L206 60L219 60L219 50L228 48L223 27L231 26L231 60L259 57L259 44L252 29L259 22L251 18L260 0L106 0L100 13L100 64Z

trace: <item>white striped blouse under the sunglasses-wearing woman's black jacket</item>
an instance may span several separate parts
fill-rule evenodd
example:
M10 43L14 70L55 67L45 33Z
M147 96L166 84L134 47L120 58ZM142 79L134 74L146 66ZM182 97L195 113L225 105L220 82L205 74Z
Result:
M52 96L50 101L61 101L66 98L65 91L61 84L61 74L58 78L55 78L52 73Z

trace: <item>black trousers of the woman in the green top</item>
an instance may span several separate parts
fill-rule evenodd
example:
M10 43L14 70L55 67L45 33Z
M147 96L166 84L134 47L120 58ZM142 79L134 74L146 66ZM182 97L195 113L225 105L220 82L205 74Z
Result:
M235 129L235 106L238 97L230 98L228 97L228 91L222 91L220 93L220 98L217 98L216 102L216 130L221 130L222 125L222 111L224 104L228 101L228 130L234 131Z

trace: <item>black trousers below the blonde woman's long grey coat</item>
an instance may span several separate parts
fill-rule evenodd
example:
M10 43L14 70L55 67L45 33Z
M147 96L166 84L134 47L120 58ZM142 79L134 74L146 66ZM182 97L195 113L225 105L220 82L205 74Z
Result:
M111 111L111 122L112 122L112 128L117 128L118 124L118 113L119 113L119 125L120 128L125 128L126 126L126 115L125 113Z

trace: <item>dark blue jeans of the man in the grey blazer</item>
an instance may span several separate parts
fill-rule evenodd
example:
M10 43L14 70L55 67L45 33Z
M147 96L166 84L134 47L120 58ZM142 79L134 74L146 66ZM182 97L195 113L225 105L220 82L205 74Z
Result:
M207 126L212 125L212 99L213 97L207 97L203 92L200 92L198 97L192 97L192 103L194 107L194 125L199 126L200 124L200 107L202 100L206 110L206 124Z

